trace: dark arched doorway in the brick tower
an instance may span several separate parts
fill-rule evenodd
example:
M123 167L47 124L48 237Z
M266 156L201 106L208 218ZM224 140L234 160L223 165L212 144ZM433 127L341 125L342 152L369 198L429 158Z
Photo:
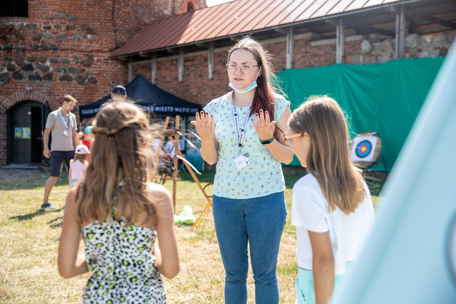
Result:
M48 112L49 106L33 100L18 102L8 111L10 163L41 163Z

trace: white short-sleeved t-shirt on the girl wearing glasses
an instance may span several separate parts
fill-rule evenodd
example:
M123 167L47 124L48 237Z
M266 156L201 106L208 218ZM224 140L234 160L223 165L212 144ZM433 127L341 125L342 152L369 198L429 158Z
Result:
M297 264L312 270L312 247L309 233L329 231L335 262L335 273L345 272L345 264L358 258L359 251L375 222L371 193L366 183L366 196L355 212L345 214L338 207L328 210L328 202L317 179L308 174L293 186L292 221L296 227Z

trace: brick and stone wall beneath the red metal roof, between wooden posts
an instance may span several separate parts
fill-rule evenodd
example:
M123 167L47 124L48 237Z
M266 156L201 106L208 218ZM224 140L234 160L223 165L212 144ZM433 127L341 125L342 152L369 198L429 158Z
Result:
M422 58L446 55L455 39L455 33L441 32L426 35L406 36L406 58ZM285 39L261 41L273 54L277 72L285 68ZM234 44L234 43L233 43ZM205 51L185 54L184 81L178 82L177 56L160 59L157 63L156 84L180 98L207 104L230 90L225 69L227 49L216 49L214 79L208 79L207 53ZM373 35L348 36L345 41L345 63L374 64L394 58L394 39L379 39ZM294 68L325 66L336 63L335 39L315 40L304 36L294 42ZM134 65L134 75L141 74L151 80L151 64Z

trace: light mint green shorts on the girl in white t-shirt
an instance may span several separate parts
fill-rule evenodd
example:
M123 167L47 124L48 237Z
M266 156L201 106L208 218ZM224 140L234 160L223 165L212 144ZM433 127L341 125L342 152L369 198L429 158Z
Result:
M348 262L345 266L345 272L343 274L337 274L334 278L333 298L336 298L337 294L341 292L341 285L345 275L353 266L354 262ZM294 290L296 292L297 304L315 304L315 287L313 286L313 272L311 270L298 268Z

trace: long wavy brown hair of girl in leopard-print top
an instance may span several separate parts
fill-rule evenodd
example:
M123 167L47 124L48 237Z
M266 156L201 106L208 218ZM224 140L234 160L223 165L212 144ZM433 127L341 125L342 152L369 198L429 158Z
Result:
M138 221L141 212L156 216L147 190L152 164L146 114L133 104L114 101L101 108L92 125L95 140L76 199L80 221L109 221L114 207L115 220L124 216L127 224Z

